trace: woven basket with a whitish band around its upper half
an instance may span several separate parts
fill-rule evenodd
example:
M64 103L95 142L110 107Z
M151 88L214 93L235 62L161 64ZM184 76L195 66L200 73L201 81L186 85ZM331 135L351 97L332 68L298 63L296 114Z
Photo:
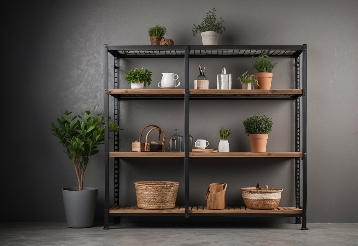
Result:
M254 209L273 209L277 208L281 200L282 189L260 188L260 184L256 187L241 188L242 198L246 207Z

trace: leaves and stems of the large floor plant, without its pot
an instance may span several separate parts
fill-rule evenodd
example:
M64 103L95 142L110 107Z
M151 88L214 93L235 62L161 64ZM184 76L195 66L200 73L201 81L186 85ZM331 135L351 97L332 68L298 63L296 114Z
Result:
M105 139L104 117L97 113L98 105L94 108L95 116L89 116L89 110L71 116L67 109L57 118L57 124L52 123L53 134L59 138L60 143L66 149L64 151L68 159L73 162L78 179L78 190L83 190L83 175L89 159L98 153L97 146L103 144ZM78 119L77 119L78 118ZM76 120L77 119L77 120ZM123 130L117 123L109 121L110 132Z

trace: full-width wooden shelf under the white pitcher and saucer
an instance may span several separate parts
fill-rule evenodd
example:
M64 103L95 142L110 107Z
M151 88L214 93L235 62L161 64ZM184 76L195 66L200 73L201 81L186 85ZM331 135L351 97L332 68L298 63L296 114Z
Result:
M184 89L110 89L113 96L150 98L150 97L182 97ZM189 90L189 98L237 97L237 98L293 98L302 95L302 90Z

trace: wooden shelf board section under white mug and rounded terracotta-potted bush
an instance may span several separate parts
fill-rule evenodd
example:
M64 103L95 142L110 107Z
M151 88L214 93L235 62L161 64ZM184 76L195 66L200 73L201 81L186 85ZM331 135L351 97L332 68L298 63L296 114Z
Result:
M286 157L302 158L302 152L189 152L189 157Z

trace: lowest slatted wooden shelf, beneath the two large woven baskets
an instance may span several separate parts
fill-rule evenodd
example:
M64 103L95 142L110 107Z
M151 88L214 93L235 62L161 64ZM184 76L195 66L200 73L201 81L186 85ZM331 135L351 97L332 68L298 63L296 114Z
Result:
M126 214L156 214L156 213L183 213L184 206L176 206L173 209L141 209L137 206L115 206L109 209L109 213L126 213ZM302 209L295 207L277 207L274 209L250 209L245 206L226 207L225 209L207 209L203 206L189 206L189 214L301 214Z

